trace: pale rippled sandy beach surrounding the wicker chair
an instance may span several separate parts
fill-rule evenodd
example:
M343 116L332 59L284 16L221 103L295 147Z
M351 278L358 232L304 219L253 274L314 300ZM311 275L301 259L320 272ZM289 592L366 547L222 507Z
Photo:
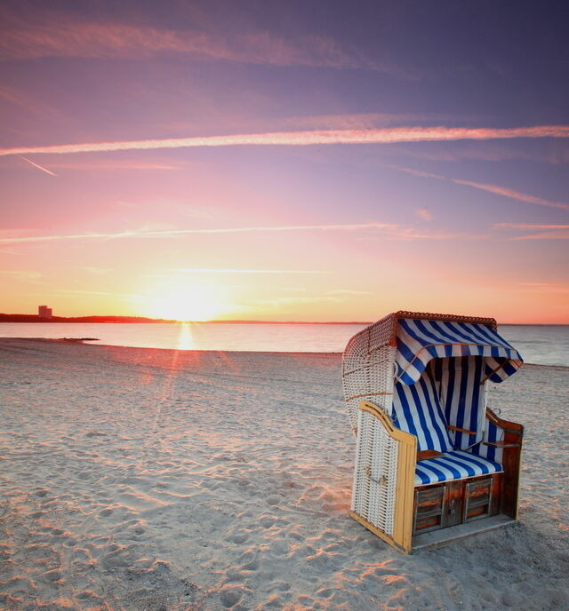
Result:
M568 389L492 385L520 522L404 556L347 515L340 354L0 339L0 607L569 608Z

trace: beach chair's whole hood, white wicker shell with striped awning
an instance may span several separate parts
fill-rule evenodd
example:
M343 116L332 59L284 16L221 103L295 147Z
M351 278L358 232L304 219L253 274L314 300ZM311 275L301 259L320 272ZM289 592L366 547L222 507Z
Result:
M394 390L399 385L416 385L427 375L433 359L441 364L442 359L469 362L473 372L471 359L476 359L477 380L471 374L468 382L473 387L486 380L499 383L523 362L498 334L493 318L407 311L389 314L352 337L343 354L342 383L352 427L357 427L357 408L363 400L373 401L391 416Z

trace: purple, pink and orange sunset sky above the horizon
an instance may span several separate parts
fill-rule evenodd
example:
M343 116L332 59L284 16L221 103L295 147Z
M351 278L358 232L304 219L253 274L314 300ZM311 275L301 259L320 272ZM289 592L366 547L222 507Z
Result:
M569 323L565 2L0 24L0 312Z

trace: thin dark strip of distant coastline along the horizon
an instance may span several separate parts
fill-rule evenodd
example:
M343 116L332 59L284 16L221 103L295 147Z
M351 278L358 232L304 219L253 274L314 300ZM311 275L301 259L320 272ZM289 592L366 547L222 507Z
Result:
M144 316L52 316L42 318L37 314L3 314L0 313L0 322L106 322L106 323L179 323L199 322L201 324L330 324L330 325L369 325L371 321L175 321L165 318L146 318Z

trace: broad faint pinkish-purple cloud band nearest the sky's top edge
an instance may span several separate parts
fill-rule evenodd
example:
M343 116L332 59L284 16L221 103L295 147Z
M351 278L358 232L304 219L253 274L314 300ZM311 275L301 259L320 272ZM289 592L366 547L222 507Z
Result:
M116 22L45 17L41 25L14 15L6 17L0 38L0 60L43 57L140 58L158 53L190 54L196 59L273 66L366 67L397 72L397 67L347 52L326 36L284 38L266 31L223 36L208 32L133 26Z

